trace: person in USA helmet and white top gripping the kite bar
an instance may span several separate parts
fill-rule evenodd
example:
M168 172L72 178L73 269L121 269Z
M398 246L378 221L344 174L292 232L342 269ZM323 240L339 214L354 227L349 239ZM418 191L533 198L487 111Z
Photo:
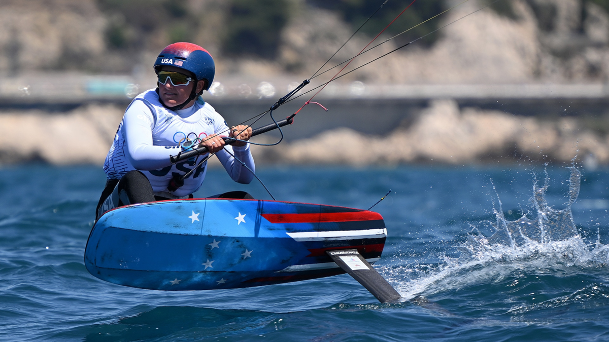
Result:
M209 90L216 72L209 52L192 43L174 43L158 55L154 70L157 88L133 99L116 131L104 163L108 180L96 219L125 204L192 198L203 183L207 163L193 169L208 155L172 165L170 155L186 148L205 146L238 183L253 179L254 160L246 142L252 128L228 128L224 118L200 97ZM226 145L225 137L238 140ZM252 198L245 192L219 197Z

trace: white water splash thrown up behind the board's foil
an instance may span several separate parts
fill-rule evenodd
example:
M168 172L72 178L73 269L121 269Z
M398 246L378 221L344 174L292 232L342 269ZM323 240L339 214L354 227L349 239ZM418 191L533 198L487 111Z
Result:
M495 208L494 234L486 237L473 225L467 240L459 246L461 255L444 257L443 263L432 271L422 271L424 265L415 268L386 270L390 279L398 281L396 288L405 299L424 293L432 295L441 291L497 282L516 273L577 274L586 270L606 268L609 265L609 245L600 243L600 234L594 243L586 243L578 231L571 212L580 190L581 173L570 167L569 191L564 209L554 209L547 203L546 191L549 176L544 185L537 179L533 184L532 208L535 213L525 213L518 220L505 218L498 197ZM535 215L535 218L529 216ZM482 223L481 223L482 225ZM408 274L406 282L399 281L398 274Z

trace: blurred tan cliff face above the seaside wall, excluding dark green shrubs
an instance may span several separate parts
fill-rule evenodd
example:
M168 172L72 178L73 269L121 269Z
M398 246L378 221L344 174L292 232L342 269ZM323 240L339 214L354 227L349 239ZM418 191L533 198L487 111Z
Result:
M169 6L174 2L181 7ZM4 0L0 3L0 73L62 69L145 72L163 46L183 38L212 52L219 77L236 74L262 79L296 74L301 79L317 70L353 32L340 13L315 7L311 1L294 0L286 7L289 20L277 32L276 54L267 59L245 53L234 56L222 48L230 2L174 2ZM443 3L449 8L461 2ZM425 37L349 78L370 83L608 79L609 16L599 5L604 2L510 0L507 14L491 7L476 12L488 2L468 0L457 5L430 21L437 27L456 21L438 31L435 43L424 44L429 40ZM352 57L369 39L356 35L333 60ZM397 46L396 40L389 41L354 63L364 63Z

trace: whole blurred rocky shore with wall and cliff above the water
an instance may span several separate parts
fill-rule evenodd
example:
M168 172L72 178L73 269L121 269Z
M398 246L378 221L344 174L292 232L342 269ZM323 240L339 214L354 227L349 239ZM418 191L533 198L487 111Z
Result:
M320 72L356 55L409 3L387 2ZM177 41L211 52L216 78L203 97L239 124L314 75L381 4L1 0L0 163L102 164L130 100L155 87L158 53ZM256 162L461 165L577 155L587 167L608 164L608 13L607 0L418 0L371 46L414 29L345 72L414 42L330 83L315 97L329 111L306 106L284 142L253 148Z

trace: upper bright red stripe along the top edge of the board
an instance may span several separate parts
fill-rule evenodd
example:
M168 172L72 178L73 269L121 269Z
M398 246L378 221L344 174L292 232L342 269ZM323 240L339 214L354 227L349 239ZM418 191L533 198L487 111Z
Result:
M262 214L270 223L317 223L382 220L381 214L373 211L323 212L319 214Z

